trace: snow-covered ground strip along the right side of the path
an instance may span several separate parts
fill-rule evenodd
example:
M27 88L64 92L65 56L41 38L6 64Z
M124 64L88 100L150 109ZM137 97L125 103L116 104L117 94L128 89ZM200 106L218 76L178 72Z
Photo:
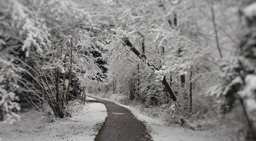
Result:
M177 125L166 126L159 118L146 116L133 107L119 103L116 104L127 108L134 114L134 116L142 121L146 125L146 128L154 141L231 141L231 137L226 135L226 132L223 132L222 127L206 131L193 131L188 128L178 127ZM224 128L224 130L226 130L226 128Z

